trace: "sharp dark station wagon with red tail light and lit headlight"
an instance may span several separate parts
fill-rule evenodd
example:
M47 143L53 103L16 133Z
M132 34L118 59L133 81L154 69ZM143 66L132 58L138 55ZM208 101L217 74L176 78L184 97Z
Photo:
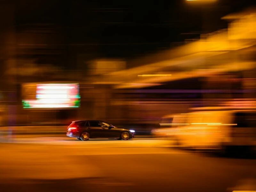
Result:
M83 141L96 138L129 140L134 138L134 135L134 130L116 127L99 120L73 121L67 131L68 137Z

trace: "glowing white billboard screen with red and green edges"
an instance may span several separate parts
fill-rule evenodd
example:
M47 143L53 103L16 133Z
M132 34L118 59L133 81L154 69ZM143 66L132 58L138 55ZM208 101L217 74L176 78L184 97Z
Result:
M23 108L78 108L79 84L36 84L36 98L22 100Z

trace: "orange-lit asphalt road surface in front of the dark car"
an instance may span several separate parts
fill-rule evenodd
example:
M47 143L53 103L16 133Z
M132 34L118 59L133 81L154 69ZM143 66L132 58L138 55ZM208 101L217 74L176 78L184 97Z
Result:
M240 190L256 190L256 159L178 150L165 140L12 141L0 144L0 191L226 192L241 180L251 183Z

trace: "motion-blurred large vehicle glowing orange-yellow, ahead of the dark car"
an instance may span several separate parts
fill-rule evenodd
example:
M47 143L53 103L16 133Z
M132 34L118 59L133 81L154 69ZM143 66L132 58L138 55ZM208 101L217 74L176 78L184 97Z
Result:
M256 110L200 108L188 113L184 126L172 130L180 147L221 149L256 146Z

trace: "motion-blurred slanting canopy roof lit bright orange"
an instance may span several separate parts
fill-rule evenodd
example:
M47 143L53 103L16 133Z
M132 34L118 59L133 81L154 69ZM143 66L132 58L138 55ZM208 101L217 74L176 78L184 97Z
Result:
M105 74L94 83L113 84L116 89L143 88L168 81L252 69L255 62L240 60L236 55L256 45L255 26L256 14L244 13L228 29L203 35L200 40L175 49L139 58L134 62L144 61L145 65Z

